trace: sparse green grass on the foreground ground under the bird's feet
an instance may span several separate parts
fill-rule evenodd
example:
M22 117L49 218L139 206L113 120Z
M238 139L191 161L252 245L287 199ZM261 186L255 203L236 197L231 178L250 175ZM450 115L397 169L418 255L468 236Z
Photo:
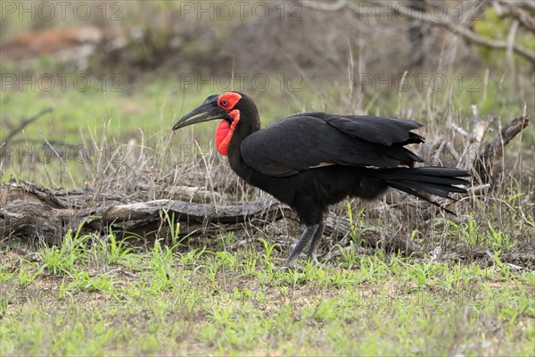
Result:
M0 354L532 353L533 272L378 255L281 273L265 246L122 246L106 260L96 244L74 264L63 254L59 274L50 251L4 250Z

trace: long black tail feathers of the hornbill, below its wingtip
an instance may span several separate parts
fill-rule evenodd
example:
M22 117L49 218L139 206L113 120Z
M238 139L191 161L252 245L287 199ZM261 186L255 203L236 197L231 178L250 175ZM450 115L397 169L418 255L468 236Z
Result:
M455 214L448 209L440 206L439 203L432 201L429 197L421 192L427 192L432 195L449 197L449 193L465 193L464 187L457 185L468 185L470 182L462 177L470 176L470 172L461 169L441 168L441 167L420 167L420 168L391 168L378 170L375 176L382 179L388 186L397 188L409 195L415 195L433 205L439 207L445 212Z

